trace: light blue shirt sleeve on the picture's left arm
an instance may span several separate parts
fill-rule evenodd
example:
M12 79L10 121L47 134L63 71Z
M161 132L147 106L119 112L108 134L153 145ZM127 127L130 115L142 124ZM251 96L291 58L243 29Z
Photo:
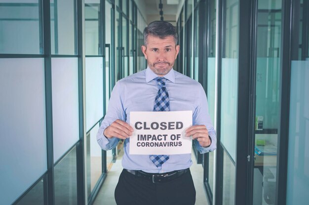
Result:
M107 113L100 125L100 128L97 132L97 142L104 150L113 149L117 146L119 139L112 137L110 139L106 138L104 135L104 130L110 126L116 119L126 121L126 115L123 110L123 104L121 99L121 85L118 81L113 88L111 98L109 101L109 106Z

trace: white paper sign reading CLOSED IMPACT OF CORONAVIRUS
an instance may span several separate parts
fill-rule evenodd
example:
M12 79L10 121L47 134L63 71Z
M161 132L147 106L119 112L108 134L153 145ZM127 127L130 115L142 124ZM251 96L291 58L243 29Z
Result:
M130 125L130 154L191 153L185 130L192 126L192 111L130 112Z

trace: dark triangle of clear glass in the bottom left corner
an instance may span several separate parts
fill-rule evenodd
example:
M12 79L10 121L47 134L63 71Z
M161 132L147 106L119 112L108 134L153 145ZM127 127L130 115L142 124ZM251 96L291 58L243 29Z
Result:
M44 180L39 180L16 205L44 205Z

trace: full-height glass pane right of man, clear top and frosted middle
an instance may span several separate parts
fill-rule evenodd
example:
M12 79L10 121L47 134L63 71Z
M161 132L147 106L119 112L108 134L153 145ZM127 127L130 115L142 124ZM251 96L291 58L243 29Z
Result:
M221 73L221 144L223 161L223 204L234 205L237 90L238 90L238 0L224 0ZM229 157L228 157L229 155Z

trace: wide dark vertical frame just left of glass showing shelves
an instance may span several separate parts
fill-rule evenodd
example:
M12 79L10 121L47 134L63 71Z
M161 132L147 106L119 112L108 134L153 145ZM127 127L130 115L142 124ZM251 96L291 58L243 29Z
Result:
M237 135L235 160L235 205L247 205L248 171L253 156L249 156L249 137L253 132L252 109L252 27L254 0L239 0L238 32L238 100L237 100ZM241 35L240 35L241 34ZM248 69L249 68L249 69ZM251 110L250 110L251 109ZM239 126L240 125L240 126ZM251 157L251 159L248 157ZM245 190L244 190L245 187ZM245 193L245 194L244 194Z

